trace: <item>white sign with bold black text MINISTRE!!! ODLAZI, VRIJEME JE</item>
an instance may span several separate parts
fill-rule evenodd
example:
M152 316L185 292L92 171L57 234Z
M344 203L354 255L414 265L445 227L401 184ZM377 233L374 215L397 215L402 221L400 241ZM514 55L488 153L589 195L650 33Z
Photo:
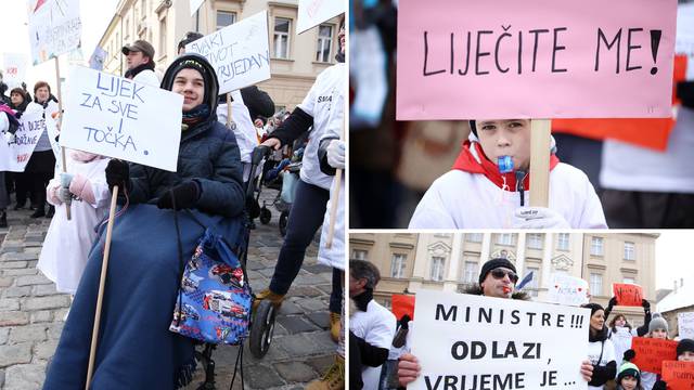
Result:
M586 389L590 310L420 290L409 389Z

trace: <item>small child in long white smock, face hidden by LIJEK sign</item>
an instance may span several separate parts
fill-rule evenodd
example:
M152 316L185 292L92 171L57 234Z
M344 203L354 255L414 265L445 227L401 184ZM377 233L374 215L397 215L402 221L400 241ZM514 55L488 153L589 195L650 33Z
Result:
M110 191L105 169L108 158L73 151L67 172L56 176L46 188L55 216L46 235L37 268L55 283L61 292L75 294L92 243L94 227L107 212ZM67 220L66 202L72 218Z

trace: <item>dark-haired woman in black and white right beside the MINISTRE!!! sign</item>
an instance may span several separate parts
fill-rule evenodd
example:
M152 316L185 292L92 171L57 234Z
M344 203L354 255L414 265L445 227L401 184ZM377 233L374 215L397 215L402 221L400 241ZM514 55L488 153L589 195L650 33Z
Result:
M590 309L590 333L588 354L593 365L593 376L588 382L589 390L599 390L617 375L615 346L607 338L605 310L597 303L586 303L581 308Z

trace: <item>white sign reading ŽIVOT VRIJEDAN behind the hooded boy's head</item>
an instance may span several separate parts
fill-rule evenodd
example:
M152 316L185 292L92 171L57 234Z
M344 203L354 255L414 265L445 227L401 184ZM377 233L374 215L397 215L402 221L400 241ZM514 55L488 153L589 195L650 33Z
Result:
M268 13L259 12L185 46L213 65L219 93L227 93L270 78Z

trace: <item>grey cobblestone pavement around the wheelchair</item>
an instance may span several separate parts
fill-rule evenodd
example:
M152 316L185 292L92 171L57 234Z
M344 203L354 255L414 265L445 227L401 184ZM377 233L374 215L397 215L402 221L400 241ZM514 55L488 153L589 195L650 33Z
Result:
M262 197L275 192L264 188ZM248 277L255 290L268 286L282 246L279 212L268 225L256 220L250 233ZM9 229L0 229L0 389L40 389L46 365L63 328L69 297L38 270L36 263L50 220L28 218L30 211L9 211ZM268 354L244 358L246 389L303 389L332 364L336 344L330 339L327 303L331 269L317 263L317 244L309 247L304 268L277 318ZM214 353L218 389L229 388L237 347L219 346ZM196 389L204 375L195 373ZM239 376L234 389L241 389Z

